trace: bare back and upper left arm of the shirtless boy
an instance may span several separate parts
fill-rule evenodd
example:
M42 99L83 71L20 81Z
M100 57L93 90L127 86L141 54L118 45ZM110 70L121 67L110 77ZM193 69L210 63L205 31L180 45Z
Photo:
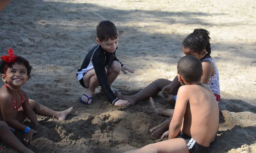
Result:
M218 104L209 86L183 85L178 91L174 115L178 113L177 106L185 107L181 131L199 144L209 146L215 140L219 121Z

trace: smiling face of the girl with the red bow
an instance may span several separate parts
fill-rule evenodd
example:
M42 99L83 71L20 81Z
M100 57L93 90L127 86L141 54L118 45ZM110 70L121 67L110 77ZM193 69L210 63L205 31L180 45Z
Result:
M6 77L1 74L1 78L9 86L20 87L27 82L29 76L27 75L26 66L14 63L11 68L7 68Z

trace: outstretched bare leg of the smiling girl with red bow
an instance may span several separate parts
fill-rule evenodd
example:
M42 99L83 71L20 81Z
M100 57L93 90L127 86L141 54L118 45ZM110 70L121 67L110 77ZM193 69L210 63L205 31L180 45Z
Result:
M54 117L57 118L59 121L65 120L67 115L69 115L73 109L73 107L70 107L64 111L54 111L52 109L49 109L48 107L36 103L36 101L32 99L29 99L29 104L31 105L33 111L36 114L41 116Z

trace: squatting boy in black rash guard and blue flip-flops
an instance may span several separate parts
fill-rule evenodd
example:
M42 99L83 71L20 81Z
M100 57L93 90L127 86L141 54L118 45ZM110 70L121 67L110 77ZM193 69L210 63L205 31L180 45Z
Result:
M113 22L106 20L98 24L96 31L98 45L88 52L81 68L76 72L80 84L87 88L79 101L84 104L91 104L95 89L100 85L110 103L116 106L128 106L130 103L118 99L110 88L121 70L125 74L127 74L126 70L131 73L134 72L116 58L118 30Z

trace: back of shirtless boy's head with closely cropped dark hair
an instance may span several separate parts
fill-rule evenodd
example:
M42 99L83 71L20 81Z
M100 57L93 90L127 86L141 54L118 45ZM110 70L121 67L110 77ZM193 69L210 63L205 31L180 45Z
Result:
M200 81L202 77L202 63L194 56L186 55L178 61L178 74L187 82Z

